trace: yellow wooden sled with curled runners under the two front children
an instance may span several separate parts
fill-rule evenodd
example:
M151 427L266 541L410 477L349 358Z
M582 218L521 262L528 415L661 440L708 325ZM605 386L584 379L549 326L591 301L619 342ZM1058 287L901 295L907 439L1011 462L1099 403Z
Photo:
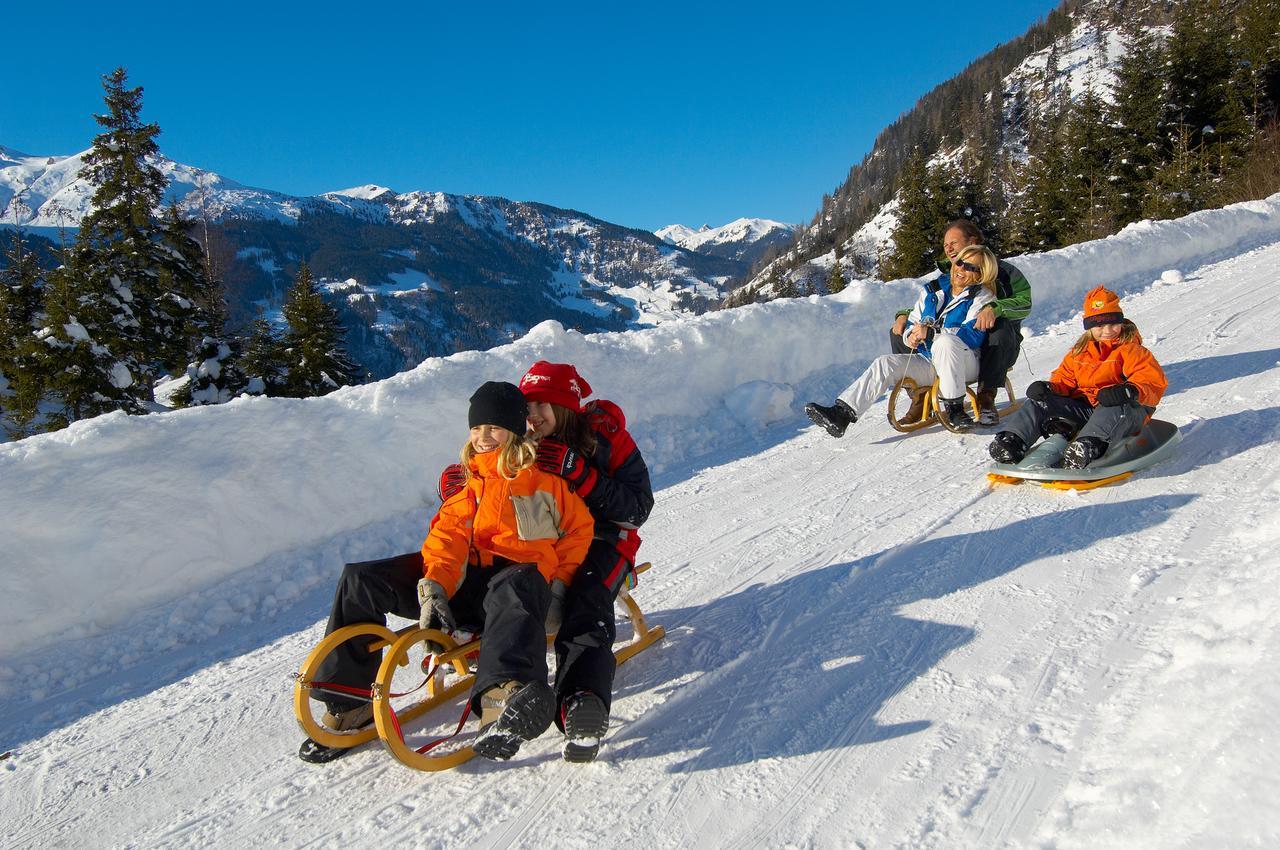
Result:
M636 575L645 572L650 566L653 565L649 562L636 566ZM644 612L640 611L640 605L636 604L636 600L625 586L618 591L618 603L621 603L625 608L627 620L631 621L631 627L635 632L630 641L613 650L614 658L617 658L617 662L622 664L662 640L666 635L666 630L662 626L650 626L645 621ZM370 652L389 648L389 650L383 655L383 662L378 667L378 678L371 686L374 725L349 732L335 732L323 726L312 713L312 708L315 705L315 702L311 699L312 682L315 681L316 671L320 670L320 663L329 655L329 653L348 640L366 635L370 638ZM408 664L410 650L416 644L426 639L430 639L445 648L443 653L435 657L435 671L425 682L426 696L413 705L396 710L393 717L390 695L396 671L397 668ZM302 667L298 670L294 678L293 713L298 719L298 726L302 727L302 731L306 732L311 740L324 746L346 749L360 746L361 744L367 744L375 737L380 737L383 746L385 746L392 755L394 755L403 764L407 764L417 771L444 771L468 762L475 755L475 751L472 751L470 745L454 749L442 749L435 754L419 753L416 748L410 746L404 741L401 728L403 728L403 726L408 722L426 714L431 709L449 703L458 695L471 690L471 686L475 682L475 673L470 670L467 657L472 653L480 652L481 640L483 639L477 639L465 644L458 644L453 640L453 638L442 631L436 631L434 629L420 629L416 625L406 626L397 631L371 622L355 623L346 626L344 629L339 629L332 635L326 635L319 644L316 644L315 649L311 650L306 661L302 662ZM548 644L550 644L554 638L549 636L547 640ZM445 682L445 672L451 667L457 673L457 678L452 682Z

